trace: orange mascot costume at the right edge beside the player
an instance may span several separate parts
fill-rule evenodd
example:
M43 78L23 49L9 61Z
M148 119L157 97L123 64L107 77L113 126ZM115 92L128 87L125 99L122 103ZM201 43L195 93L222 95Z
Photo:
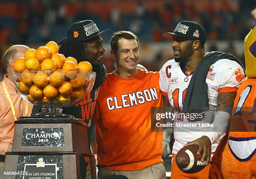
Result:
M256 179L256 27L244 40L244 54L247 77L236 94L230 132L212 158L210 179Z

